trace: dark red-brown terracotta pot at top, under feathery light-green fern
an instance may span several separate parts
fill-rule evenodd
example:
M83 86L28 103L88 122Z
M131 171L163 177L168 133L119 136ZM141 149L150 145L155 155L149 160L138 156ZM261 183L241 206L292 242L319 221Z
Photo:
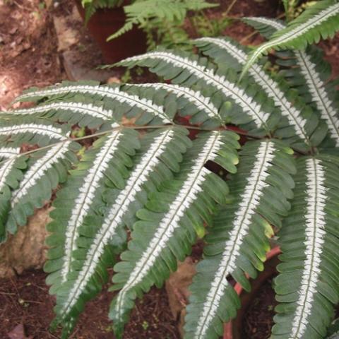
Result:
M76 6L81 17L85 18L85 10L81 1L76 0ZM102 56L107 64L112 64L121 59L142 54L146 51L146 36L142 30L133 27L124 35L107 42L107 37L117 32L125 23L125 13L122 7L98 8L87 24L88 31L97 42L102 51Z

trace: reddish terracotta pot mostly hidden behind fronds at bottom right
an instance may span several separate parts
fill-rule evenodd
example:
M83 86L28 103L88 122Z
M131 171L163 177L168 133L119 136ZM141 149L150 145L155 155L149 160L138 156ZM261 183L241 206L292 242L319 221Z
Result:
M258 278L251 282L251 292L245 292L243 291L241 285L238 283L235 284L234 290L240 296L242 307L239 309L236 319L225 323L223 339L242 339L241 328L246 309L249 307L249 304L251 304L251 301L256 297L256 293L260 289L261 285L263 285L266 280L272 278L272 276L275 275L275 267L279 262L278 254L280 253L280 248L278 246L274 247L268 252L266 255L265 269L263 272L258 274Z

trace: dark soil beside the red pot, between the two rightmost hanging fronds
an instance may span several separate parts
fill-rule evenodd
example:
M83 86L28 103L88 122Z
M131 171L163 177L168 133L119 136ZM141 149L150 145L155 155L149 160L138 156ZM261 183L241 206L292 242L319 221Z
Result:
M273 326L273 310L275 305L278 304L274 295L272 279L266 280L244 314L242 338L270 338L270 330Z

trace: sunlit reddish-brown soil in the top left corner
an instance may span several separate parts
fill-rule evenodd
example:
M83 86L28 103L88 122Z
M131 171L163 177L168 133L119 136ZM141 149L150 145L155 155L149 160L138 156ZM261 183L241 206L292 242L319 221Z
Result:
M40 1L0 0L0 109L25 88L65 78L56 40L52 13Z

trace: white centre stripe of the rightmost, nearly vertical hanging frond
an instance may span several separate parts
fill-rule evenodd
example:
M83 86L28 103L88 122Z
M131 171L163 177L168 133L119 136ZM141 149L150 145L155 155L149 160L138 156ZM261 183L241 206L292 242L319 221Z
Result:
M325 231L326 187L325 172L321 161L310 158L306 160L306 199L305 241L306 246L304 270L302 272L301 288L298 292L297 309L293 316L292 333L289 338L304 338L307 330L308 317L311 314L317 283L321 275L321 253Z

